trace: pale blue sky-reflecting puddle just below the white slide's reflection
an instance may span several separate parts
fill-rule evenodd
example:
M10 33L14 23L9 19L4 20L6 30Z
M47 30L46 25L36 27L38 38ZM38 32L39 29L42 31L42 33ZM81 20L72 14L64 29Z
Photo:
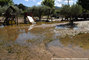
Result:
M28 33L21 33L19 34L18 38L16 39L16 43L20 45L29 45L32 41L41 42L45 37L42 34L33 34L30 31Z

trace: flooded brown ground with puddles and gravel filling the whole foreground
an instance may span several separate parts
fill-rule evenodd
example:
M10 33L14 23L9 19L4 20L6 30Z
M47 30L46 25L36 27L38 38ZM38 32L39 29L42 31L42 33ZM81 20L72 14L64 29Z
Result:
M89 58L88 26L60 28L60 24L0 27L0 60Z

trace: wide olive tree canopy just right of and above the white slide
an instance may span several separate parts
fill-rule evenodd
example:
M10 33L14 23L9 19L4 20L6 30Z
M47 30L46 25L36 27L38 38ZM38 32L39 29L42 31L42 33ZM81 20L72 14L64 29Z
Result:
M48 6L33 6L28 8L28 12L32 13L33 16L39 17L41 20L42 16L48 16L54 13L54 10Z

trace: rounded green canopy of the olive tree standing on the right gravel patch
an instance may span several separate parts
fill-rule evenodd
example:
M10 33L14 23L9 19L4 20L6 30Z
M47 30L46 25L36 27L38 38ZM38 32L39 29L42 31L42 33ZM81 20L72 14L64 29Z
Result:
M60 14L64 17L77 17L82 13L82 7L78 4L68 6L64 5L61 10Z

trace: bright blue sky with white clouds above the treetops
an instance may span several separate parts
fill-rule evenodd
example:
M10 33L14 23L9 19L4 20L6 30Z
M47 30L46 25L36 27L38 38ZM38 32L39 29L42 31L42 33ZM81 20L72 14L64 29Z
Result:
M42 0L13 0L15 4L24 4L25 6L39 6ZM77 0L70 0L70 5L75 4ZM55 0L55 6L61 7L62 4L67 4L67 0Z

